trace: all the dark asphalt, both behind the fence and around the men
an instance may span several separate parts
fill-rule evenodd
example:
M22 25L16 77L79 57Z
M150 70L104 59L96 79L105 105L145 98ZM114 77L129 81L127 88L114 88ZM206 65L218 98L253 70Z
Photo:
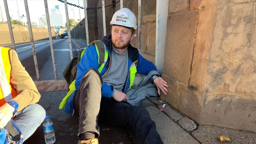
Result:
M10 47L11 46L5 46ZM53 40L54 55L57 67L58 79L64 79L61 75L64 68L70 61L68 39ZM35 42L35 49L41 80L54 80L53 64L50 51L49 41ZM16 50L19 59L25 69L28 71L34 81L37 80L32 48L30 43L16 44ZM75 45L72 44L73 56L77 56L78 52ZM63 110L59 110L59 104L67 91L60 92L40 92L40 104L46 111L46 115L51 117L54 123L56 136L56 144L76 144L78 141L78 118L66 114ZM133 144L134 137L129 129L119 128L100 123L100 144ZM34 132L34 134L24 141L24 144L44 144L44 133L42 125Z

